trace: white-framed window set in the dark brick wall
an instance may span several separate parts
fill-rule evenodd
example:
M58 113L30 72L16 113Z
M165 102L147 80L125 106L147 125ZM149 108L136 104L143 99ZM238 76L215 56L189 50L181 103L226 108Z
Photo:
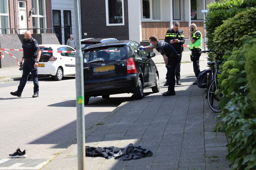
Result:
M107 26L124 25L123 0L106 0Z

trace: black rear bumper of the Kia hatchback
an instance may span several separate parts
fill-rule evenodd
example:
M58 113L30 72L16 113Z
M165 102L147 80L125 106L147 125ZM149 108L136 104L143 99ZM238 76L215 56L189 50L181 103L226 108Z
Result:
M106 94L132 93L137 86L138 75L84 80L84 95L96 97Z

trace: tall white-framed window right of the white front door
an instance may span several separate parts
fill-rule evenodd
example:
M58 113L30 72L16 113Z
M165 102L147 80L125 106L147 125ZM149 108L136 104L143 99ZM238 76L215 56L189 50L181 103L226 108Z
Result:
M32 0L35 13L32 14L33 33L46 33L45 0Z

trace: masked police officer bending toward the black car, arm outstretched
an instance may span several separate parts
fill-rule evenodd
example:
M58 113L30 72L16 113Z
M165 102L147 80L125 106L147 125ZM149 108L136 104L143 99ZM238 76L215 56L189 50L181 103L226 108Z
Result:
M178 61L178 54L174 47L164 41L159 41L156 36L151 36L149 38L150 45L149 46L139 46L139 49L145 48L156 48L158 52L160 52L164 58L164 63L167 68L167 82L168 82L168 91L163 93L163 96L174 96L175 91L175 65Z

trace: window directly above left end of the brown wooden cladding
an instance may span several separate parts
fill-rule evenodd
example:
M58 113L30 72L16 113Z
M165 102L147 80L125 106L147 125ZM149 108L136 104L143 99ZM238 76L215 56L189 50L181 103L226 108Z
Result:
M161 20L161 0L141 0L142 20Z

